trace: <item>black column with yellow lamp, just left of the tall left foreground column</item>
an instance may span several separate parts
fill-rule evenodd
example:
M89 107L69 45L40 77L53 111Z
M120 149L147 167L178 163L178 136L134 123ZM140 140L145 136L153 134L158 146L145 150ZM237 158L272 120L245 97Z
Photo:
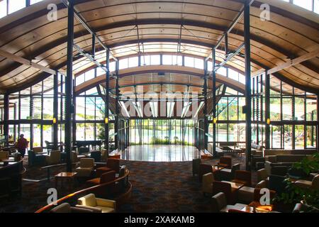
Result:
M61 84L62 86L62 84ZM59 73L55 71L55 75L53 77L53 149L57 150L57 131L59 130L58 126L58 109L59 109L59 96L58 96L58 88L59 87Z

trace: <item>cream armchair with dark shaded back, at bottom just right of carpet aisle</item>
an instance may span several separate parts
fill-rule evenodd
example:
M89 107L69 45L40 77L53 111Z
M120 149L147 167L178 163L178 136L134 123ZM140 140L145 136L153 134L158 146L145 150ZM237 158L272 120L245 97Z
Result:
M230 209L241 210L246 206L245 204L228 205L226 195L223 192L219 192L218 194L214 195L211 198L211 201L214 213L226 213Z

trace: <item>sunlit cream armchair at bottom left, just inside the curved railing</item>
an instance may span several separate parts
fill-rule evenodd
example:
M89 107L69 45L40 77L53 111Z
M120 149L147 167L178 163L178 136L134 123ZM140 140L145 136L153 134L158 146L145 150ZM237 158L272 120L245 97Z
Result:
M96 198L94 194L88 194L77 200L77 207L91 209L94 212L114 213L116 212L116 201L110 199Z

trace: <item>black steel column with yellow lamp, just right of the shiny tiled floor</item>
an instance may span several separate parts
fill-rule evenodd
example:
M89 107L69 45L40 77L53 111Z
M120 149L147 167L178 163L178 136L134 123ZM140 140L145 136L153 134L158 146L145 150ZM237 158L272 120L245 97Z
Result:
M213 60L213 156L216 157L216 50L212 50L212 60Z

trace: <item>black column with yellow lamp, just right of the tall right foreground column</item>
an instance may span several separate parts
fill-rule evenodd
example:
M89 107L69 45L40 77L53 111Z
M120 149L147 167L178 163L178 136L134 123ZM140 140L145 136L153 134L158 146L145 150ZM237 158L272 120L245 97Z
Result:
M270 75L268 72L265 72L265 97L264 97L264 115L266 118L266 125L265 125L265 147L266 149L270 149Z

